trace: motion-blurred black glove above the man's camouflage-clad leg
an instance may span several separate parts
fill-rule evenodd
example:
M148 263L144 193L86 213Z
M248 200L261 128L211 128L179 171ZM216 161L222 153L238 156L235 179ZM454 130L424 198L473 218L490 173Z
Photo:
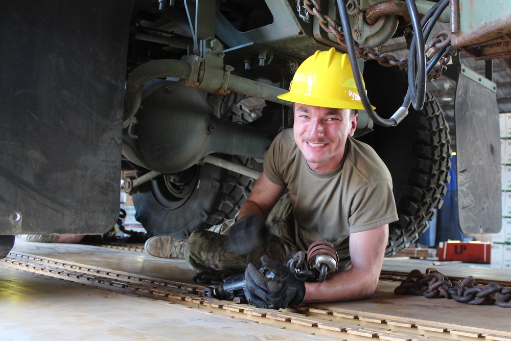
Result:
M222 247L228 253L240 256L252 252L256 247L268 243L270 230L262 215L251 214L244 216L230 226L229 234L225 236Z

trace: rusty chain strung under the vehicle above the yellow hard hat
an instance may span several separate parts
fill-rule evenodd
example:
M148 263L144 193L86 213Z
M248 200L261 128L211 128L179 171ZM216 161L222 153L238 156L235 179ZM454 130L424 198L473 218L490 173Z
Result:
M300 0L297 0L298 3ZM321 28L328 32L334 34L337 42L343 48L346 48L346 43L344 41L344 32L342 32L342 27L337 24L337 22L330 17L329 15L321 13L321 6L319 5L318 0L303 0L303 5L309 14L315 15L319 19L319 25ZM440 40L440 37L443 37L444 40ZM427 44L426 47L426 55L429 50L434 49L434 51L427 57L427 61L431 60L433 56L438 53L440 49L443 47L449 46L451 43L451 32L449 30L439 31L434 35L432 40ZM389 53L380 53L377 49L370 48L366 45L358 45L355 46L355 50L359 58L364 60L376 60L380 65L391 67L398 66L401 69L407 69L408 67L408 57L404 57L402 59L397 59L393 55ZM447 51L444 56L439 61L439 64L433 68L433 71L429 75L429 79L437 79L442 76L442 73L447 69L446 64L449 62L452 51Z

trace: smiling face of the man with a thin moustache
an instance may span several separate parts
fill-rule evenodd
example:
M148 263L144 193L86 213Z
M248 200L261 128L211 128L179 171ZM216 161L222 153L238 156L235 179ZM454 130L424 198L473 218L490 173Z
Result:
M313 171L328 173L341 164L346 140L357 127L358 114L352 112L295 103L294 141Z

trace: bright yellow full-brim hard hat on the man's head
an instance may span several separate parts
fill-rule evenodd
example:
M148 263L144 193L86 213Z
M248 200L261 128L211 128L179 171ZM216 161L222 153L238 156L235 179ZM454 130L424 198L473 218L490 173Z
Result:
M364 109L353 78L350 58L334 48L316 51L301 63L293 76L289 92L277 98L327 108Z

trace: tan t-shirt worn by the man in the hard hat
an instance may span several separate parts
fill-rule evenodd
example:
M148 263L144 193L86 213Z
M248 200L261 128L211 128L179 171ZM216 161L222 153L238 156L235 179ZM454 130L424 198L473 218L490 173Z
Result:
M265 153L264 173L287 187L296 246L304 252L311 243L327 240L340 260L347 259L350 233L398 220L387 167L373 148L355 139L348 139L337 169L316 173L296 146L293 129L286 129Z

